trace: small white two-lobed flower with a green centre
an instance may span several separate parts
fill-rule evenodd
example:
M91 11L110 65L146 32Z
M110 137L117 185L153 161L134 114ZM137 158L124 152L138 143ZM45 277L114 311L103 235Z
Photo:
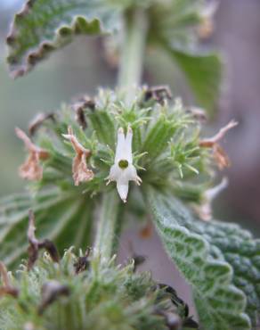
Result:
M109 181L107 183L109 185L111 181L117 182L118 194L123 202L126 202L129 181L134 181L138 186L142 183L142 179L137 176L133 165L132 139L132 128L128 127L126 136L123 128L118 129L115 163L110 169Z

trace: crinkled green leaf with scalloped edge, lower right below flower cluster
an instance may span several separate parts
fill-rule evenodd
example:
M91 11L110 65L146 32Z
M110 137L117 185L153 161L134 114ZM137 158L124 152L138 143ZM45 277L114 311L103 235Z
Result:
M167 253L175 261L175 265L187 282L191 284L202 329L250 329L250 321L245 312L248 292L243 290L243 285L238 285L239 266L232 268L231 264L234 262L231 264L227 262L225 252L235 250L239 254L239 248L241 251L247 250L248 241L251 242L251 246L254 245L254 241L248 238L246 232L240 230L242 235L238 239L241 240L241 245L237 246L228 236L232 234L231 226L234 225L216 226L215 222L204 223L194 219L181 202L171 196L159 194L152 188L147 189L146 197ZM229 247L223 251L220 250L220 243L218 246L214 245L214 240L216 243L217 237L220 238L220 228L222 229L220 242L225 242ZM236 228L239 230L238 227ZM259 258L259 243L254 245L253 251ZM254 253L252 253L253 259ZM242 257L243 254L237 261ZM255 285L259 287L259 270L260 268L255 271L253 279L251 277L251 288ZM259 292L256 293L254 290L254 295L257 294L259 302ZM248 301L250 298L249 295Z

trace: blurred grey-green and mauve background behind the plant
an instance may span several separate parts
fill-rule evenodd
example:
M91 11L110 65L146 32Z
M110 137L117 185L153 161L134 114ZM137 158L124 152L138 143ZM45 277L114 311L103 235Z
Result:
M14 127L26 129L37 112L54 111L61 102L70 102L77 95L93 95L97 86L114 87L117 77L116 69L103 56L101 40L79 37L25 78L9 78L4 64L4 37L13 13L22 3L23 0L0 1L0 196L23 187L17 169L24 153L14 135ZM209 128L216 132L231 119L240 122L224 141L224 148L232 159L232 168L224 173L230 177L230 186L215 201L215 216L240 222L254 235L259 235L260 1L220 1L210 42L223 52L226 68L223 93ZM150 54L144 81L150 85L168 84L175 95L182 95L184 101L191 103L189 91L175 70L169 70L169 65L167 59ZM127 240L134 241L134 249L141 254L153 253L154 258L150 258L144 268L153 269L161 282L173 282L174 267L167 256L162 255L157 237L143 242L133 228L122 240L122 255L129 250ZM180 291L185 293L186 286L176 272L174 280L180 281Z

